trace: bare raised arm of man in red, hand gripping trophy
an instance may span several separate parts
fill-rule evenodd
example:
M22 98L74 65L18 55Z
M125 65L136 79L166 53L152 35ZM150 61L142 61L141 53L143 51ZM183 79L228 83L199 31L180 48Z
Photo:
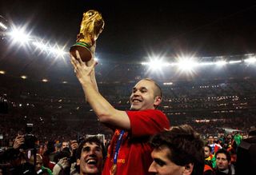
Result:
M94 113L98 116L99 121L110 125L111 128L118 129L130 129L130 119L126 111L114 109L112 105L98 92L94 67L97 62L92 61L91 66L87 66L85 62L82 62L78 51L76 51L77 58L70 55L70 61L74 66L74 72L78 78L78 81L82 85L82 89L86 96L86 101L94 110Z

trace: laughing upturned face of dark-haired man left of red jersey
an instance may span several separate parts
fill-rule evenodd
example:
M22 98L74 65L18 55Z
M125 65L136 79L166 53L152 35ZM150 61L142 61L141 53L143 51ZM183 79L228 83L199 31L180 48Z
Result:
M82 147L81 157L77 161L80 173L101 173L103 165L102 147L86 142Z

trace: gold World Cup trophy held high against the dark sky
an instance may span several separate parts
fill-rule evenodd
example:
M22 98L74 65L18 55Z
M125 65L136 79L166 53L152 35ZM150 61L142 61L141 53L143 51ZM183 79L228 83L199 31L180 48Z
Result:
M97 10L88 10L83 13L80 32L76 43L70 47L70 54L77 58L75 50L78 50L82 62L89 62L92 58L90 47L94 46L99 34L102 33L104 24L102 14Z

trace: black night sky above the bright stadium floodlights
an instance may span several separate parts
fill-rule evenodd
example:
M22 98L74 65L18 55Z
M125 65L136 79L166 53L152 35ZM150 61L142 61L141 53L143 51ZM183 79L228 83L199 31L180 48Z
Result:
M256 52L256 2L205 1L1 1L0 14L32 34L75 42L82 13L99 10L106 22L97 54L106 59L143 59L150 53L248 54Z

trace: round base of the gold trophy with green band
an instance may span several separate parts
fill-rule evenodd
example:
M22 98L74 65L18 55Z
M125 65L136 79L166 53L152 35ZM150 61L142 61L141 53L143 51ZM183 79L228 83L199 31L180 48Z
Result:
M82 62L89 62L90 59L92 58L92 54L90 52L90 49L88 48L89 45L83 42L77 42L74 44L74 46L70 47L70 54L76 58L77 55L75 54L75 50L78 50L80 57L82 59Z

